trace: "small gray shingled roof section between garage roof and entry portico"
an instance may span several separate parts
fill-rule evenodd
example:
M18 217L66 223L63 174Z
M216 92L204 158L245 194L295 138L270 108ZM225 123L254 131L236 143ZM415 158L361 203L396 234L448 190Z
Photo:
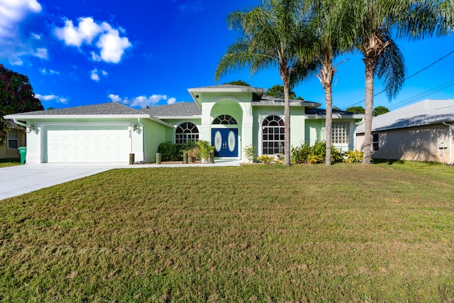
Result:
M161 106L150 106L139 111L156 117L157 119L170 119L175 117L200 117L201 109L195 102L180 102Z

